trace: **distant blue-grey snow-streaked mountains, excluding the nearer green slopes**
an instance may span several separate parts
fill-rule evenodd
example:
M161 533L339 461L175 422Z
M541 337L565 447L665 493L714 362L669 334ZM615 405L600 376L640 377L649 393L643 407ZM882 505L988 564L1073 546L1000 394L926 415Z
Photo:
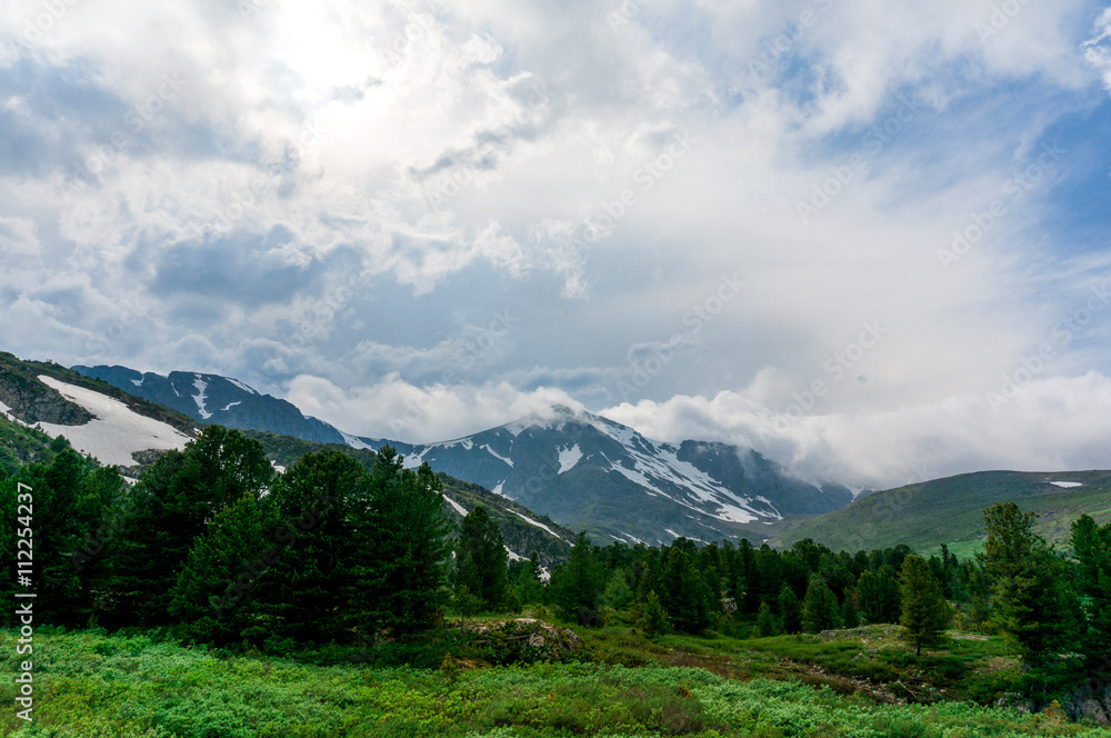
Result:
M480 485L597 541L669 542L749 537L784 516L835 510L853 499L813 485L752 449L648 439L627 426L565 406L448 441L413 445L343 432L294 406L217 375L162 377L127 367L73 367L198 422L286 433L377 450L393 446L409 466Z

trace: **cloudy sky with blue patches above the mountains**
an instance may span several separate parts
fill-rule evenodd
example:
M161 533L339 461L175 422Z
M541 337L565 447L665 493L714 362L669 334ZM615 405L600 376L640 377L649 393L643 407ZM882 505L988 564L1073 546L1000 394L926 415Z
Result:
M1111 468L1107 0L6 0L0 349L443 440Z

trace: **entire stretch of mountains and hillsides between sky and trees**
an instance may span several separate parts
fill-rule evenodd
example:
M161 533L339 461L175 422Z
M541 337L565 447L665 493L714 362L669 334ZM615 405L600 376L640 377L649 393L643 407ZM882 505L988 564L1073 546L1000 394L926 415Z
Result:
M413 445L346 433L218 375L74 369L0 352L0 468L49 459L64 436L134 477L212 422L257 438L279 467L324 448L372 463L374 450L389 443L408 466L428 461L440 473L448 515L458 519L486 506L511 555L537 550L544 566L565 556L577 530L603 545L743 536L780 547L811 538L834 550L907 543L933 552L944 542L969 556L982 546L983 509L998 501L1039 512L1035 529L1062 543L1082 512L1111 520L1111 471L983 471L853 499L844 487L802 481L751 449L661 443L563 406L466 438Z

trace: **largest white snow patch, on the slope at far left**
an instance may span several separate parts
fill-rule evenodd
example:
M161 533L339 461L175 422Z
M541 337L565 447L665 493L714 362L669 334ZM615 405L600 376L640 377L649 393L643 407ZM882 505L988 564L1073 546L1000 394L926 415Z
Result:
M39 379L91 412L94 418L83 426L59 426L40 422L51 436L64 436L77 450L96 457L103 465L136 466L132 453L156 449L183 449L191 438L167 423L132 412L119 400L83 387L76 387L53 377Z

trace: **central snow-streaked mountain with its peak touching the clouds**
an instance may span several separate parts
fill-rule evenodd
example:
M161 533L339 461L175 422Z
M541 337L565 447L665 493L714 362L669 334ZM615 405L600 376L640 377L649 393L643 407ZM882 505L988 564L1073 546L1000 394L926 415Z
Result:
M618 422L556 406L550 413L429 445L389 443L408 465L487 487L595 542L668 542L680 536L763 540L784 516L834 510L852 500L837 485L794 478L752 449L644 438Z

